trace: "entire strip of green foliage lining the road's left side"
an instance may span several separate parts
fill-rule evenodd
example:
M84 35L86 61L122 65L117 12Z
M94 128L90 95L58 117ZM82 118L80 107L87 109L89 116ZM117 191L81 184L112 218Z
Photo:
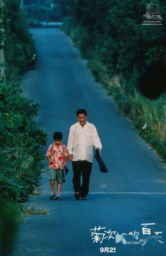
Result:
M34 40L19 2L5 3L1 10L6 78L0 80L0 200L25 201L38 185L41 147L47 134L33 120L38 104L21 97L18 83L21 75L35 64Z

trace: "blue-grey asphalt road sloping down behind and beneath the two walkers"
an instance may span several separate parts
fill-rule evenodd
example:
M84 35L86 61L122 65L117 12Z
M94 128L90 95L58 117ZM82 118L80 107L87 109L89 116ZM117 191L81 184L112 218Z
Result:
M76 123L76 111L85 108L87 121L93 123L99 133L103 149L101 156L108 168L107 174L99 173L94 159L90 177L90 193L87 201L74 199L72 167L63 184L61 201L49 200L48 173L39 181L40 195L30 196L38 207L49 210L49 215L27 216L20 223L18 238L12 255L101 255L103 247L116 247L115 255L164 255L165 254L165 167L157 154L132 128L131 122L116 109L101 85L95 82L80 58L71 40L58 28L31 29L36 40L39 59L36 67L22 80L23 96L40 104L36 118L39 127L49 134L47 146L52 143L54 131L63 133L67 144L69 128ZM43 154L47 146L43 147ZM47 161L44 162L47 170ZM161 231L156 245L149 240L140 244L115 243L115 235L139 232L141 224L154 232ZM103 231L116 231L113 238L93 242L90 229L105 227ZM105 234L108 233L105 232ZM109 233L110 235L110 233ZM104 236L106 237L106 235ZM132 236L131 236L132 237ZM150 237L150 235L149 235ZM139 240L135 240L139 241ZM154 241L154 240L153 240Z

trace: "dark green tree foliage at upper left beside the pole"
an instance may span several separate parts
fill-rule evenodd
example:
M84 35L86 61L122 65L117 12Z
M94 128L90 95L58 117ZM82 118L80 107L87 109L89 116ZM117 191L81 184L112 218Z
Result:
M6 0L4 14L4 37L6 78L15 81L34 66L36 47L25 22L25 12L19 8L19 1Z

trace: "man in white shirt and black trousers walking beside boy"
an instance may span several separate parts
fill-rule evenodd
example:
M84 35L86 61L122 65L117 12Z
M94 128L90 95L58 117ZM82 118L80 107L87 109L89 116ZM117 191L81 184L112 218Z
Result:
M69 159L73 166L73 188L75 199L86 200L89 192L89 177L92 171L93 146L102 149L96 127L88 123L85 109L77 110L76 124L70 127L67 142ZM82 173L82 186L81 186Z

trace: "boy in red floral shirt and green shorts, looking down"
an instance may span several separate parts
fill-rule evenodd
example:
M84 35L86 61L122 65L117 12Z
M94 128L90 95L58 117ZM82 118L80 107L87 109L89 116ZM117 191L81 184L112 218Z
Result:
M54 132L54 143L49 145L46 156L49 161L48 167L50 169L50 185L51 194L50 199L55 196L55 180L57 181L57 194L55 200L60 200L60 191L62 187L62 172L65 175L65 166L67 165L68 152L65 145L61 143L63 134L61 132Z

